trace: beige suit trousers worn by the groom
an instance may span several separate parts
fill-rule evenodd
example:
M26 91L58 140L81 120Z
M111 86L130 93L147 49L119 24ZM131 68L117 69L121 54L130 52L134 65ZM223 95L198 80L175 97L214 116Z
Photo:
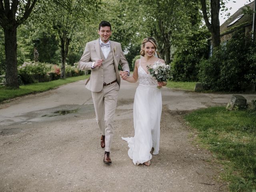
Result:
M105 151L110 152L114 134L114 114L118 98L119 85L117 82L103 86L100 92L92 92L92 100L96 113L96 121L102 135L105 135Z

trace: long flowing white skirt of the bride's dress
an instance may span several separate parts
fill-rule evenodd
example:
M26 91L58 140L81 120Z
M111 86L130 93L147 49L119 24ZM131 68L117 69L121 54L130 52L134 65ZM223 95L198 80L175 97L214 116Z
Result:
M156 86L139 84L134 96L134 137L122 137L128 142L128 156L134 165L143 164L159 152L160 119L162 113L161 90Z

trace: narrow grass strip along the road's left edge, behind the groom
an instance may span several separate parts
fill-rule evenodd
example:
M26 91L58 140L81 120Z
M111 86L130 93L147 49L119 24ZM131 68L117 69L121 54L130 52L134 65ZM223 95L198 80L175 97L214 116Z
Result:
M19 89L7 89L5 86L0 86L0 102L10 98L26 95L26 94L47 91L64 84L72 83L79 80L84 80L88 77L89 75L88 76L83 75L83 76L66 78L64 80L58 79L50 82L32 83L28 85L22 85L20 86Z

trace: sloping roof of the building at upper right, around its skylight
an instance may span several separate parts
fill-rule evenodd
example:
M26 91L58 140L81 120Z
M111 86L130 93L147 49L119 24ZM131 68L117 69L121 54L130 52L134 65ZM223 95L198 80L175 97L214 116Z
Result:
M249 6L252 10L254 10L254 3L255 3L255 0L253 2L247 4L246 6ZM220 26L220 34L221 35L232 31L232 29L234 29L234 28L239 28L239 27L242 27L242 26L252 25L253 14L244 14L243 13L243 8L245 8L245 6L239 8L232 16L230 16L230 18L228 18L228 20L226 20ZM242 14L244 14L244 15L239 20L234 22L234 24L228 26L231 22L236 20L236 18L238 18Z

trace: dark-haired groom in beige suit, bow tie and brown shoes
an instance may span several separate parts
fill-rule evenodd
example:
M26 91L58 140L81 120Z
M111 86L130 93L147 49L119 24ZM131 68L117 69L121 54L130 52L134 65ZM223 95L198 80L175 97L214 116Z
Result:
M102 21L99 25L100 38L88 42L84 49L78 68L92 70L86 82L86 88L92 92L92 100L96 113L96 120L100 127L100 145L105 147L104 163L111 164L110 147L114 133L114 114L118 91L120 88L120 75L118 64L122 66L122 78L129 76L130 69L122 52L121 44L110 41L111 25Z

